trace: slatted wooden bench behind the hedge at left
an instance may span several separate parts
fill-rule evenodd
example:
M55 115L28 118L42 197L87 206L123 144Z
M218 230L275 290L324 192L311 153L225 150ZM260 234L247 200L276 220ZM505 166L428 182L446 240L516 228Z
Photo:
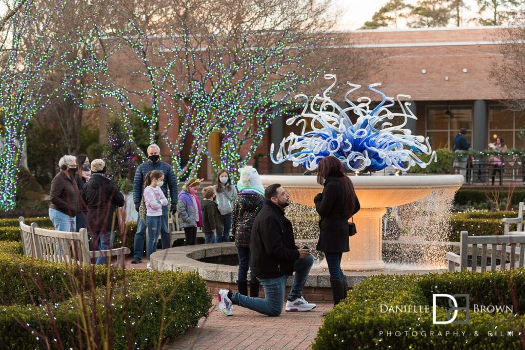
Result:
M25 226L24 229L26 230ZM80 232L63 232L40 228L36 223L31 224L30 227L34 247L33 257L53 261L54 263L91 265L91 258L111 258L116 256L117 266L124 267L124 255L131 253L128 247L89 250L88 231L86 228L81 228ZM22 222L20 222L20 229L22 230ZM26 238L27 236L23 239Z

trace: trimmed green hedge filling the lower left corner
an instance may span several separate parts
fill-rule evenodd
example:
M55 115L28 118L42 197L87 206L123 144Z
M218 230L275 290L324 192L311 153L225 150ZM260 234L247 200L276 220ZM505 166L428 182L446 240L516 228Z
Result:
M0 242L4 348L152 348L211 307L194 272L67 266L20 254L20 243Z

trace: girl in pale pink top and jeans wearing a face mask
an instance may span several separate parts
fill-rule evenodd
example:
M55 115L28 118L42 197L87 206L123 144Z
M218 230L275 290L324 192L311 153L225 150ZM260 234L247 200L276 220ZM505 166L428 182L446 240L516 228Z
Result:
M168 204L166 196L161 190L164 184L164 174L160 170L153 170L146 174L144 179L144 203L146 204L146 226L148 227L148 243L146 254L150 255L157 249L157 242L162 225L162 207ZM150 263L146 268L151 268Z

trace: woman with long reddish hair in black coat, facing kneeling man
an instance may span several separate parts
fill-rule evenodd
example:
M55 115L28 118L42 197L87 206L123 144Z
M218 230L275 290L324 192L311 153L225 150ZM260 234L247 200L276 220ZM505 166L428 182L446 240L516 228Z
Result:
M348 290L348 282L341 269L343 253L350 250L348 220L361 206L352 181L345 176L343 164L338 158L329 156L319 162L317 182L324 189L313 199L321 216L316 249L322 251L327 260L333 303L337 305L346 297Z

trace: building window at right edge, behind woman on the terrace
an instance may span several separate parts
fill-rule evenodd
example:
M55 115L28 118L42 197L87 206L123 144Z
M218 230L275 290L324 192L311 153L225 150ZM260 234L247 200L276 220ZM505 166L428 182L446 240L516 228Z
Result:
M524 149L525 111L511 111L504 106L491 106L489 109L488 142L495 143L497 137L505 140L507 148Z

